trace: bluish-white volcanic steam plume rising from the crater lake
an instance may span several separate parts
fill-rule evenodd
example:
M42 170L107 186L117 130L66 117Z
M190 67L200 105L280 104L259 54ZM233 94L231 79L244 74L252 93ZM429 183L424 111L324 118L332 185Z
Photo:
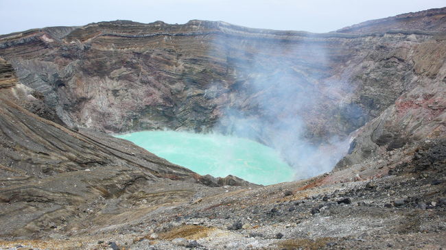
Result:
M231 42L226 39L224 42ZM340 81L329 81L328 75L324 75L327 55L323 45L309 42L265 45L253 41L253 45L240 44L239 51L226 53L228 64L232 62L237 69L236 82L231 86L228 105L215 131L258 140L277 149L296 169L296 179L331 171L347 153L348 138L329 136L325 141L309 140L305 133L312 127L305 119L317 115L316 107L320 108L327 98L335 99L331 103L342 108L343 97L336 95L351 89ZM357 106L349 110L362 113Z

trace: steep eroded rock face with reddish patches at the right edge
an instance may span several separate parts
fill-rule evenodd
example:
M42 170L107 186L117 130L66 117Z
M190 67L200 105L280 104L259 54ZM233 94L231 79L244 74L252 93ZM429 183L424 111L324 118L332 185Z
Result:
M417 60L414 67L419 73L416 85L353 134L357 136L355 147L338 163L338 168L379 155L383 149L392 151L413 142L445 138L446 64L444 58L438 58L438 54L445 53L445 45L442 41L417 47L414 58L424 60ZM433 50L438 53L431 53Z

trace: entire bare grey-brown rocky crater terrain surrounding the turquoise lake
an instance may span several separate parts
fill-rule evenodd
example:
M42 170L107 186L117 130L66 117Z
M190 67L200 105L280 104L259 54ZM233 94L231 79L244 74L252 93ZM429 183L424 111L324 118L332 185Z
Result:
M113 21L0 36L0 246L445 247L445 16L329 34ZM266 121L249 127L263 143L299 117L299 138L351 136L349 152L331 173L260 187L102 133L231 132L234 110Z

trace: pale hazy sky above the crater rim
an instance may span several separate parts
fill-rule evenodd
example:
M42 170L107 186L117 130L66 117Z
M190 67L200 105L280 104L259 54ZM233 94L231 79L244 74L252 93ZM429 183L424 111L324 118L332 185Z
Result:
M141 23L200 19L330 32L362 21L445 6L445 0L0 0L0 34L117 19Z

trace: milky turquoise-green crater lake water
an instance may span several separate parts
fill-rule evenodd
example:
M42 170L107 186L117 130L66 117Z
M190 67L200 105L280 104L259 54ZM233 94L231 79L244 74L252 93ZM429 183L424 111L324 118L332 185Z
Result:
M219 134L135 132L116 136L185 166L200 175L235 175L255 184L293 180L294 171L279 153L253 140Z

